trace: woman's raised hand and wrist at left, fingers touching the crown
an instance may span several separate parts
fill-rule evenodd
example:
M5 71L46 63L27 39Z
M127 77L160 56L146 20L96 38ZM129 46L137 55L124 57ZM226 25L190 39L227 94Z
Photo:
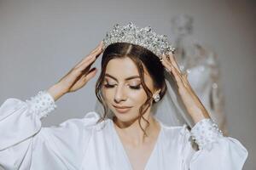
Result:
M90 66L96 61L97 57L102 54L102 42L90 52L84 59L73 67L71 71L61 78L48 92L54 99L59 99L63 94L75 92L90 81L96 75L96 67L90 69Z

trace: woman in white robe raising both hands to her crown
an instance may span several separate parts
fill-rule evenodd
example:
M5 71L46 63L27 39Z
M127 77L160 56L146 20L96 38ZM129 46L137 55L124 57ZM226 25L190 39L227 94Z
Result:
M172 53L158 53L164 46L154 41L160 39L145 42L152 32L143 30L137 36L133 26L128 25L128 30L116 28L121 37L113 31L112 37L108 35L104 43L47 91L40 91L26 102L11 98L3 103L0 165L5 169L37 170L241 169L247 150L237 139L219 132ZM133 40L141 41L136 41L140 45L130 41L131 34ZM58 127L41 127L40 119L55 109L57 99L84 87L95 77L96 68L90 66L102 52L96 96L104 106L104 115L91 111L83 119L70 119ZM153 116L152 106L166 94L165 70L177 82L178 93L195 122L190 132L185 125L166 126ZM106 119L108 111L113 118ZM199 150L192 147L190 137Z

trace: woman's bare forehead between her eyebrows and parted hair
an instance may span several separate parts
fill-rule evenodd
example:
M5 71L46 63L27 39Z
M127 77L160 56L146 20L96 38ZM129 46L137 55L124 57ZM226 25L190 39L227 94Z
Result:
M143 68L143 71L144 76L148 77L148 71L145 68ZM106 67L106 73L118 79L139 76L137 65L129 57L109 60Z

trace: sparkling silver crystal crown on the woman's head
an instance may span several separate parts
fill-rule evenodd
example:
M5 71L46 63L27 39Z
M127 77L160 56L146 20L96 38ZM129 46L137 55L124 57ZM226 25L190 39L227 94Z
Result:
M106 37L103 39L103 49L108 45L115 42L128 42L147 48L153 52L160 59L163 54L173 54L175 48L167 40L166 35L158 35L151 30L150 26L138 28L132 22L126 26L113 26L113 30L107 32Z

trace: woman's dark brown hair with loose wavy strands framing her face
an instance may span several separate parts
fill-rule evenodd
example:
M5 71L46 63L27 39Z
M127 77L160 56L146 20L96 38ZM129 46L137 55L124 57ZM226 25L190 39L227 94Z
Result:
M108 65L108 61L110 59L116 58L124 58L129 57L136 65L139 72L139 76L141 77L141 82L143 85L143 89L148 96L148 99L139 109L139 125L142 128L144 134L145 130L141 125L141 118L148 123L149 122L143 117L143 114L148 110L150 106L152 93L150 92L149 88L146 86L144 82L144 70L143 65L146 67L150 77L153 79L154 88L161 89L160 90L160 99L166 94L166 82L164 76L164 66L161 64L160 59L147 48L143 48L142 46L134 45L131 43L126 42L116 42L110 44L108 48L106 48L102 54L102 71L101 74L96 82L96 97L103 105L104 114L100 118L98 122L102 122L108 112L108 106L104 103L103 95L102 95L102 85L105 77L106 67ZM153 105L154 105L153 100ZM147 135L147 134L146 134Z

